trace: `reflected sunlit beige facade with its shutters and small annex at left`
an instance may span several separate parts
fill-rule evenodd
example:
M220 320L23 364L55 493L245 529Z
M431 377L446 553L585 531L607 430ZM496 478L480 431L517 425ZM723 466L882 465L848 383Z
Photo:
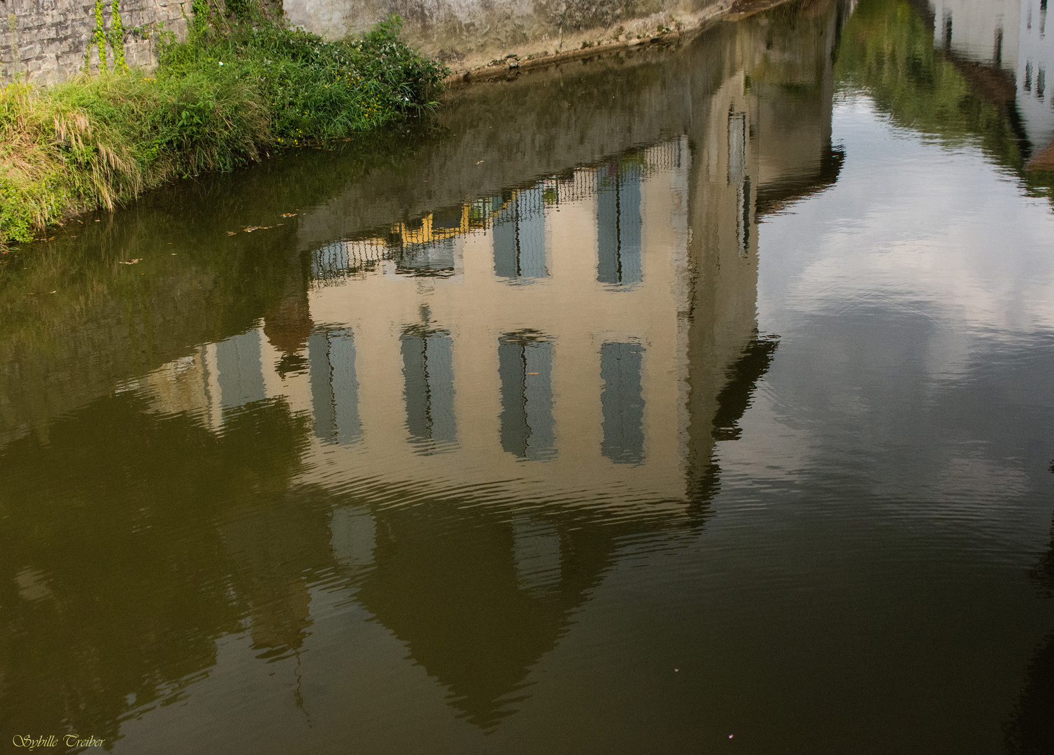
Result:
M465 202L443 233L432 213L318 250L307 369L282 372L259 327L206 346L207 414L280 395L335 442L328 465L682 500L690 162L676 139Z

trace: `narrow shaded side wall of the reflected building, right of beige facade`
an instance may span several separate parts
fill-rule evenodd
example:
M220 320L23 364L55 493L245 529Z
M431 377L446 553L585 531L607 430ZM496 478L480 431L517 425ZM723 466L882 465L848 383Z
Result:
M697 516L720 488L716 443L740 437L779 343L759 334L760 223L834 185L844 161L832 61L851 7L817 4L793 27L742 24L738 69L694 94L686 495Z

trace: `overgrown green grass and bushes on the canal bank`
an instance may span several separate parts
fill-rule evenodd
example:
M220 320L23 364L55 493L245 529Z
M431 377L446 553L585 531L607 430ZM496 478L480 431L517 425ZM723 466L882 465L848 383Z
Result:
M391 17L362 39L327 42L281 19L228 20L202 5L153 74L103 67L43 90L9 84L0 90L0 247L172 178L432 108L446 68L399 31Z

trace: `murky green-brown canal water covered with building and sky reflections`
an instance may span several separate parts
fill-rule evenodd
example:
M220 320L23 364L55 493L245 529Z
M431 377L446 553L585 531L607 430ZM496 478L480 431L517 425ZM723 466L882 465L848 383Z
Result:
M8 255L4 751L1054 751L1046 23L797 2Z

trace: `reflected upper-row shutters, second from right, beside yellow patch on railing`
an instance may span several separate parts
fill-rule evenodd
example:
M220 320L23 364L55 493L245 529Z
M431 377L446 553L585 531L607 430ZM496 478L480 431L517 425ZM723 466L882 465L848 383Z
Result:
M548 275L545 267L545 214L542 188L516 191L494 218L494 274L530 280Z

